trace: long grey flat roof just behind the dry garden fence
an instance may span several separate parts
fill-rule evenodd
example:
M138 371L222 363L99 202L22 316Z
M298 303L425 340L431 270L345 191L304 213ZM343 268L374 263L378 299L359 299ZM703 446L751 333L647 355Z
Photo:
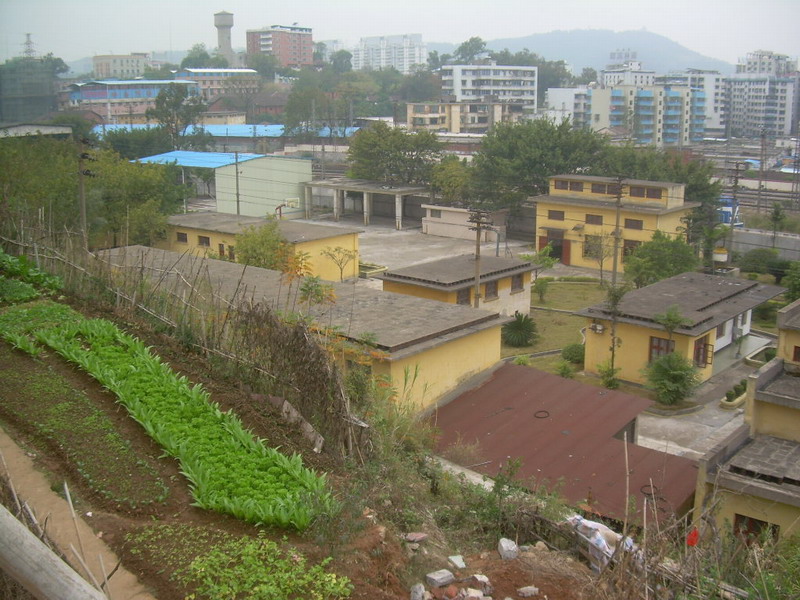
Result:
M201 289L213 290L229 301L246 300L281 310L287 305L295 306L296 290L289 289L278 271L146 246L113 248L97 254L115 266L143 267L151 279L159 281L161 289L177 288L183 292L188 288L187 282L205 281L208 286L200 286ZM312 306L308 314L320 323L337 327L349 339L358 340L366 334L374 336L378 348L389 353L390 359L412 356L510 320L485 310L383 292L354 283L331 285L336 302ZM300 310L299 305L297 309Z

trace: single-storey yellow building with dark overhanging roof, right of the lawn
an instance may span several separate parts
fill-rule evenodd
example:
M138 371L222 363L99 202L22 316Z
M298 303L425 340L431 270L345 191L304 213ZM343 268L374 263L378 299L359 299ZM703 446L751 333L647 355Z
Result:
M678 352L694 362L705 381L714 372L714 355L750 333L752 309L781 292L774 285L702 273L683 273L628 292L617 317L618 377L643 384L643 369L652 360ZM673 306L687 324L670 336L658 317ZM585 369L598 373L611 359L612 314L606 303L578 314L587 318Z

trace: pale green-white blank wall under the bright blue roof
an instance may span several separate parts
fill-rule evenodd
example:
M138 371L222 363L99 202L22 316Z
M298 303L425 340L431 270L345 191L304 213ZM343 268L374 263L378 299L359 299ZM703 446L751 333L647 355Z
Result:
M302 158L265 156L239 163L239 210L236 208L236 165L216 170L217 210L249 217L276 214L279 205L299 198L296 208L282 208L283 218L305 216L304 183L311 181L311 161Z

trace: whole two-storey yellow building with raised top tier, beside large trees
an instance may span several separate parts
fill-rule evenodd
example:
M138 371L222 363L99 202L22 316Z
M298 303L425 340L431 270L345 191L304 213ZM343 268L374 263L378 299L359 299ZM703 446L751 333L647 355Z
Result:
M618 269L625 257L656 231L684 235L684 219L699 206L684 200L685 185L627 179L619 202ZM536 202L537 247L553 247L551 256L565 265L611 269L617 223L617 180L611 177L557 175L546 196Z

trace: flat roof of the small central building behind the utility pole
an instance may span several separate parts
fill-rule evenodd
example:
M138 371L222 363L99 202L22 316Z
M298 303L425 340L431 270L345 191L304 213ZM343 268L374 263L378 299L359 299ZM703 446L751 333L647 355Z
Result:
M493 281L521 273L530 273L535 267L528 261L502 256L481 256L481 281ZM475 283L475 255L462 254L432 260L378 275L376 279L413 283L437 289L459 289Z

